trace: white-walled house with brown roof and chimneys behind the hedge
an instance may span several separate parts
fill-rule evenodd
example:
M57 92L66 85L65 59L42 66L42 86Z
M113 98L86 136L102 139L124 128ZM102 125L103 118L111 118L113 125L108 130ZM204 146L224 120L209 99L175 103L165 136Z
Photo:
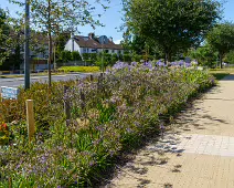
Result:
M95 36L94 33L89 33L88 36L83 35L71 35L71 39L66 42L65 50L67 51L78 51L82 55L83 53L116 53L124 54L124 49L120 44L115 44L113 38L107 38L106 35Z

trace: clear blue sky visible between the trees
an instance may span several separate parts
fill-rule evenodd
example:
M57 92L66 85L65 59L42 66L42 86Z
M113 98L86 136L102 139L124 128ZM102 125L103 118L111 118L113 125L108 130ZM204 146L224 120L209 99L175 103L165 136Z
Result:
M24 0L22 0L24 1ZM123 23L121 18L121 0L110 0L109 9L100 18L100 22L105 24L104 28L99 27L93 30L91 27L77 28L82 35L87 35L89 32L95 32L97 35L113 36L114 41L120 41L123 33L119 32L119 27ZM8 8L10 13L14 15L14 12L19 10L15 4L10 4L9 0L0 0L0 7ZM234 21L234 0L226 0L224 4L224 20ZM98 10L98 9L97 9Z

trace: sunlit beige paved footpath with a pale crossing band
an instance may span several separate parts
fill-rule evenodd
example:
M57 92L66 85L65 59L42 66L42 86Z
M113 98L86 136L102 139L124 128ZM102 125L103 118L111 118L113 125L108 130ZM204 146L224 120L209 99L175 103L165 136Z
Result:
M182 112L108 188L234 188L234 75Z

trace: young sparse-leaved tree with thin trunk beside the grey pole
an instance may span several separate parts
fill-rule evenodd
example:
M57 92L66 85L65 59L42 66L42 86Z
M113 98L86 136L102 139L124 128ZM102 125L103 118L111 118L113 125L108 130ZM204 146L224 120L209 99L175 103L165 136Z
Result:
M13 3L24 6L20 0L10 0ZM98 17L94 17L97 12L94 10L97 4L104 9L107 7L104 2L109 0L97 0L88 2L86 0L30 0L31 6L31 27L44 31L49 40L49 86L51 86L51 62L52 62L52 44L53 35L57 35L61 31L68 30L74 32L76 27L89 24L93 28L102 25ZM76 27L74 27L76 25Z

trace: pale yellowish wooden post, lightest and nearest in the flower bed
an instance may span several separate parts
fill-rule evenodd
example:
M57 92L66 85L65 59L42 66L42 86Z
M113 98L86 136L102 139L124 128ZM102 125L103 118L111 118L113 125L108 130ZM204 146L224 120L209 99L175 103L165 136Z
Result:
M26 125L28 125L29 142L31 142L32 137L33 137L33 135L35 133L33 100L26 100Z

